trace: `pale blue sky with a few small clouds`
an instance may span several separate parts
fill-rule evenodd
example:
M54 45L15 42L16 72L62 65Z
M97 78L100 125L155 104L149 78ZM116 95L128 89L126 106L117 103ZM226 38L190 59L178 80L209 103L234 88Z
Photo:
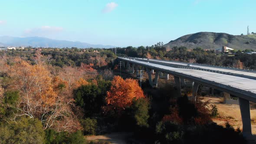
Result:
M0 36L151 46L197 32L256 32L256 0L0 0Z

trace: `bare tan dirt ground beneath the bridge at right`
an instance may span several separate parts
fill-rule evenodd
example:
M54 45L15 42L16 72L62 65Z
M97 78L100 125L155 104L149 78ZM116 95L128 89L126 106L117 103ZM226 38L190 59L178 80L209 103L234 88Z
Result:
M219 125L224 125L227 121L234 127L243 129L242 118L239 105L222 104L223 98L204 97L204 100L209 100L210 104L217 105L219 116L212 118ZM256 109L251 108L252 132L256 134Z

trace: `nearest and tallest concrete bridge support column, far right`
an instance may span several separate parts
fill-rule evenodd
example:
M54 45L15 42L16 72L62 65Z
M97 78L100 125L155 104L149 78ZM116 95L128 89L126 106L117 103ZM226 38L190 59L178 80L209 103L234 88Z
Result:
M249 101L239 98L239 105L243 122L243 137L245 137L247 140L256 140L256 137L252 134Z

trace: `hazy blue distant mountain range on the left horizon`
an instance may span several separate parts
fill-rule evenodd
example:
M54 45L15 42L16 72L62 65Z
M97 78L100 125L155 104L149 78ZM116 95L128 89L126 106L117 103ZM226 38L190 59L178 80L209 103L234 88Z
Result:
M116 46L93 45L67 40L55 40L44 37L12 37L0 36L0 46L32 46L32 47L78 47L78 48L113 48Z

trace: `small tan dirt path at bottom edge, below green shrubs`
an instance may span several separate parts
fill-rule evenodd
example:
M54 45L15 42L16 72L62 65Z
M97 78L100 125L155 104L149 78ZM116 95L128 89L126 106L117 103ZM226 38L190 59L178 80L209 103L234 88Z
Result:
M85 136L87 141L108 141L111 144L127 144L126 139L127 137L131 137L132 133L128 132L117 132L105 135L92 135L92 136Z

